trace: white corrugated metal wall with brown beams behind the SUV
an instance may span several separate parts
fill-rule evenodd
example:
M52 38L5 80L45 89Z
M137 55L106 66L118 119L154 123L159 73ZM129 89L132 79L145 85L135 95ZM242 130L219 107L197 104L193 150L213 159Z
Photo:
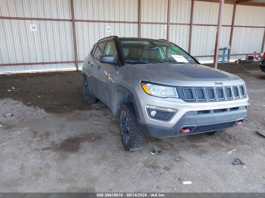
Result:
M220 48L265 50L265 0L224 2ZM219 0L0 0L0 72L66 69L98 39L163 38L213 60Z

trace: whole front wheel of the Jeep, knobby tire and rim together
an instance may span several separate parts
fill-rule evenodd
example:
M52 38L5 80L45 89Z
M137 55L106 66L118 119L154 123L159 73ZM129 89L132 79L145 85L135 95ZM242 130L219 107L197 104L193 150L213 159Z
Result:
M126 151L140 150L146 140L135 114L133 103L123 103L119 110L119 131Z

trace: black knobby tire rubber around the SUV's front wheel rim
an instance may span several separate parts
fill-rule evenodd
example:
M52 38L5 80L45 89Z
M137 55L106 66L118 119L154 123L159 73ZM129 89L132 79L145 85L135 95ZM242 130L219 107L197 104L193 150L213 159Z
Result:
M121 132L121 113L125 111L129 122L129 141L123 140ZM146 134L141 130L136 117L133 103L123 103L119 110L119 130L122 144L126 151L140 150L145 144Z

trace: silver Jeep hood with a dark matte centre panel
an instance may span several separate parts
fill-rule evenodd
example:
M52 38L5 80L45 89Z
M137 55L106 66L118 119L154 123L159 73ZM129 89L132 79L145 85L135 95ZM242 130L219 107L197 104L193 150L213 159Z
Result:
M127 69L147 78L150 82L173 86L217 87L245 84L236 75L199 64L129 64Z

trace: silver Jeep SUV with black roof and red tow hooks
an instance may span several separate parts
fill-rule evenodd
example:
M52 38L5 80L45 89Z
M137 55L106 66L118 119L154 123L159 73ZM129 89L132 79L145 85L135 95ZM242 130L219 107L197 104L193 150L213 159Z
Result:
M246 119L248 95L239 77L201 65L163 39L100 39L84 60L83 96L119 117L126 151L156 138L219 135Z

